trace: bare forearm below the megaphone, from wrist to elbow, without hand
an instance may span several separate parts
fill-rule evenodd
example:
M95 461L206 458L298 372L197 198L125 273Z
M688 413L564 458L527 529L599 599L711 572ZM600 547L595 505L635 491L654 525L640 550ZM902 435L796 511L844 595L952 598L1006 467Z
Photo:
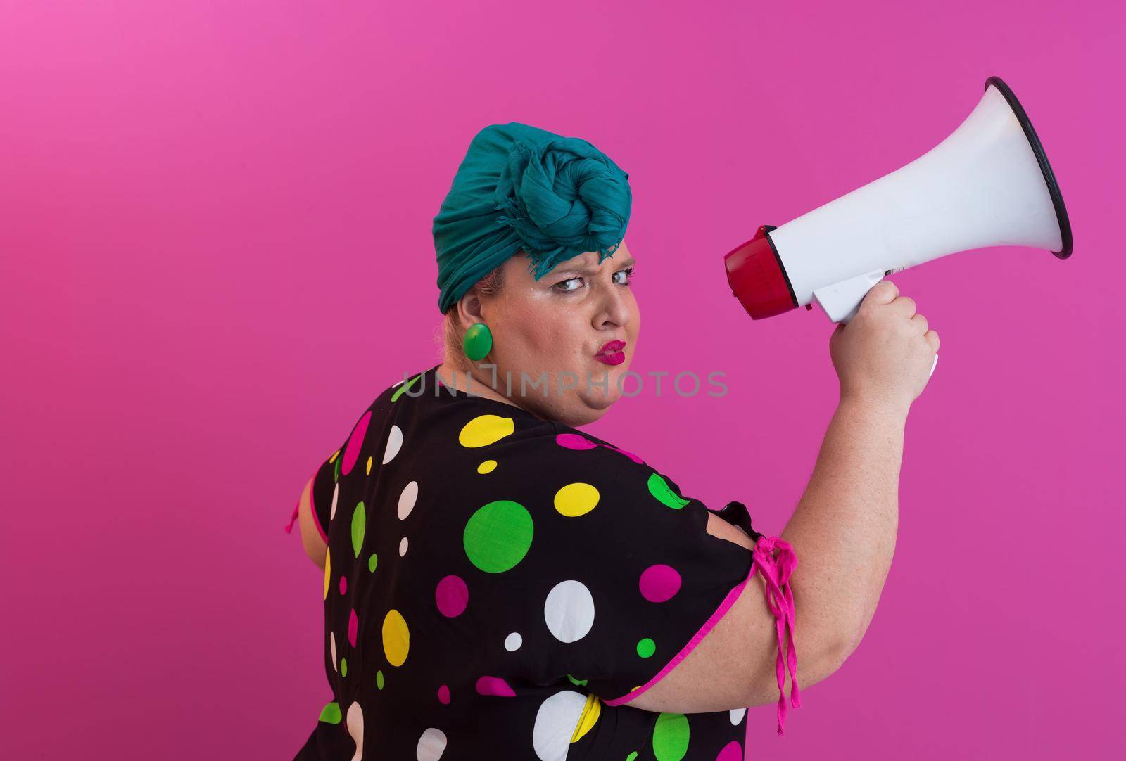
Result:
M796 634L840 660L868 628L892 564L908 410L842 399L781 534L798 559Z

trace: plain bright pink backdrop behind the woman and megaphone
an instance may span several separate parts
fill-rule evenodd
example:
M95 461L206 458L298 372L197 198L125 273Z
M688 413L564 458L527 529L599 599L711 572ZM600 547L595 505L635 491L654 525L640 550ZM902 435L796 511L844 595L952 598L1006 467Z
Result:
M750 711L750 756L1120 752L1126 18L867 6L5 3L0 756L305 740L330 695L322 576L282 525L374 395L438 361L430 221L486 124L631 173L633 369L727 374L722 399L646 393L591 432L780 532L837 402L832 324L750 320L722 256L933 147L991 74L1075 253L892 276L942 340L895 561L786 737Z

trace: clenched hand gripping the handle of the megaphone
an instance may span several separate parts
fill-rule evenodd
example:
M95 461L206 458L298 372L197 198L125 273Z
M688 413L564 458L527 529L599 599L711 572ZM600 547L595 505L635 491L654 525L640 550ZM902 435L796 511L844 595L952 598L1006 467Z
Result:
M930 379L938 347L938 333L915 312L914 299L881 280L829 339L841 400L911 406Z

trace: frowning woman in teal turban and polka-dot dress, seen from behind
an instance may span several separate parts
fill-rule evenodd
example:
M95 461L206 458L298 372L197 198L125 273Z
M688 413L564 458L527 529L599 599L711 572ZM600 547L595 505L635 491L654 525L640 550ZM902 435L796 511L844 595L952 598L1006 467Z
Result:
M384 388L294 510L333 692L297 758L734 761L777 690L781 734L784 662L799 705L798 610L805 687L863 635L937 335L879 284L831 340L841 405L788 541L709 510L578 430L638 337L627 178L527 125L471 143L434 224L445 359Z

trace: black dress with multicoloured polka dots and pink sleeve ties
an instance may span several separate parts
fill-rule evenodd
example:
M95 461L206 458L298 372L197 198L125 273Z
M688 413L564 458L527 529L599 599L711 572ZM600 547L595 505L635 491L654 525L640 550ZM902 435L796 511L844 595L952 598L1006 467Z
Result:
M742 759L745 709L627 701L754 567L777 582L772 556L708 534L709 510L637 455L437 367L381 393L314 477L332 699L296 758ZM741 503L716 512L762 537Z

